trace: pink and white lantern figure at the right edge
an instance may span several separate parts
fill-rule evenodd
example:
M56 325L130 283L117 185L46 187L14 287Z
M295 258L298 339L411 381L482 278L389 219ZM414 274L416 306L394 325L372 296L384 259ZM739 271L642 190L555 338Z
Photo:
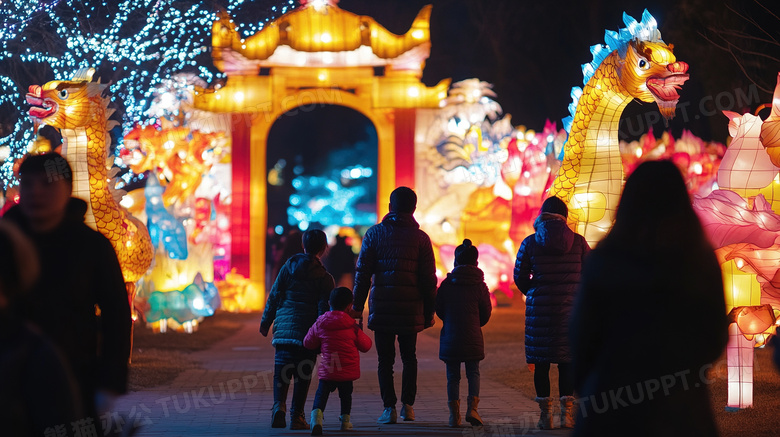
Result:
M780 81L770 123L780 116L779 108ZM762 139L771 142L775 135L762 130L761 118L724 114L733 140L718 171L722 189L705 198L695 196L694 209L723 269L726 304L734 322L727 346L726 410L736 411L753 405L753 348L774 333L780 313L780 216L772 208L778 200L780 168L770 148L762 144Z

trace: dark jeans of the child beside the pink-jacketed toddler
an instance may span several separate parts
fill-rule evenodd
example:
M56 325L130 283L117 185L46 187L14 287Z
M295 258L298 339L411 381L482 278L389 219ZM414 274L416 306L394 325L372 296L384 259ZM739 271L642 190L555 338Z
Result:
M274 409L287 410L287 391L295 379L290 416L303 415L309 394L311 375L317 360L316 351L302 346L278 345L274 354Z

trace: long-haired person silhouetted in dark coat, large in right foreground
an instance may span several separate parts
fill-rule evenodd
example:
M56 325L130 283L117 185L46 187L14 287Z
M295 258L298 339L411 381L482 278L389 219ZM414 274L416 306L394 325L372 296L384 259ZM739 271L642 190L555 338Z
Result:
M706 370L727 327L720 266L680 171L641 164L582 274L574 435L717 435Z

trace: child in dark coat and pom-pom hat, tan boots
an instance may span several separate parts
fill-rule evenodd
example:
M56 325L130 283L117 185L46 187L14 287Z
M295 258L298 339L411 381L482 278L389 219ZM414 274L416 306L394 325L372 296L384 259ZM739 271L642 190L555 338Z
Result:
M436 314L444 322L439 342L439 359L447 364L447 400L451 427L460 425L460 363L466 363L469 381L466 421L481 426L479 404L479 362L485 359L482 326L490 320L492 306L485 275L477 267L479 251L471 240L455 249L455 268L447 274L436 294Z

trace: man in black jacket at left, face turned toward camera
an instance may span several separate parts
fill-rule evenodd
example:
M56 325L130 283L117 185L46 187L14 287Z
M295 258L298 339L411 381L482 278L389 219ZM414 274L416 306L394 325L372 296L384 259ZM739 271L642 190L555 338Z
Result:
M3 218L33 241L41 275L15 312L59 347L76 377L87 417L72 426L101 432L96 415L127 391L132 320L122 270L111 242L84 223L87 204L71 197L65 158L30 156L19 174L19 205Z

